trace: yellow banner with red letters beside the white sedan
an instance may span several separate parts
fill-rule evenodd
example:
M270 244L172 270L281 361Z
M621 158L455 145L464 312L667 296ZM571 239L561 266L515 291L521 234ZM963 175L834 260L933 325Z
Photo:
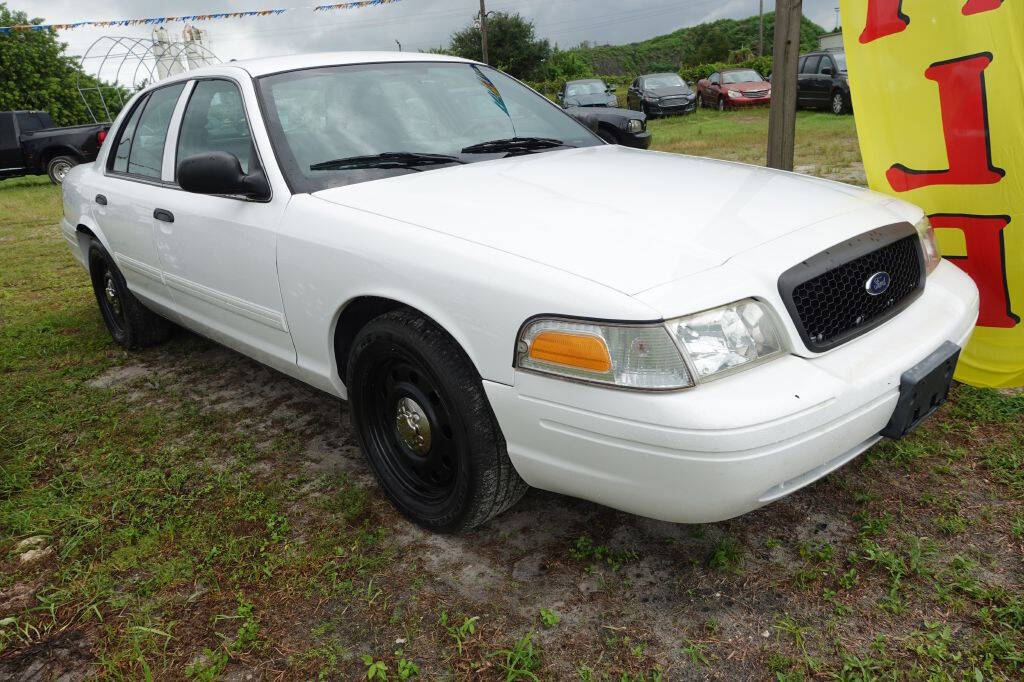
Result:
M872 189L929 214L981 292L956 378L1024 385L1024 6L842 0L857 133Z

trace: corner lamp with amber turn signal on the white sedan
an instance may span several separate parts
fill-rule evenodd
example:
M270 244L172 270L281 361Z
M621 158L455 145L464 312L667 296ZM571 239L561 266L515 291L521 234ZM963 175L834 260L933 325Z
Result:
M534 319L519 334L516 366L623 388L671 390L693 385L679 348L662 325Z

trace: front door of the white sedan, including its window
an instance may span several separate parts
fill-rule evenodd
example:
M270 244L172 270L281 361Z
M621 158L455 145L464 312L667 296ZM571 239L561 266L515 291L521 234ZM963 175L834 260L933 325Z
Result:
M165 168L171 178L181 160L209 152L234 155L246 172L261 164L234 81L196 81L177 128L174 163ZM164 282L183 324L279 369L295 367L276 261L289 199L197 195L171 184L153 206Z

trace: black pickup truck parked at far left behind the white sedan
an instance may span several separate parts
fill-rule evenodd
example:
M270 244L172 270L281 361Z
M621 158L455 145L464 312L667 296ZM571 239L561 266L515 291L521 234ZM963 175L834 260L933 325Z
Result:
M110 128L57 128L46 112L0 112L0 180L45 174L60 184L72 168L95 160Z

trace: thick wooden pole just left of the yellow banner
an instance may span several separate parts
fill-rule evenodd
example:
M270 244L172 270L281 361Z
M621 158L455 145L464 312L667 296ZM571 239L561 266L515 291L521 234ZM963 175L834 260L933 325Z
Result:
M797 61L803 0L776 0L772 50L771 110L768 112L768 167L793 170L797 135Z

